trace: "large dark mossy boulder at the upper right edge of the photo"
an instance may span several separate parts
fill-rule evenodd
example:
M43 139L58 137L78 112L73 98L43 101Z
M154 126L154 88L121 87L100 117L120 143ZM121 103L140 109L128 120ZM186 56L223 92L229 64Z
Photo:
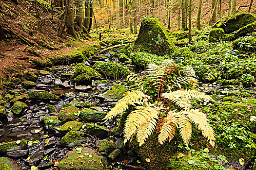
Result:
M226 34L230 34L254 21L256 21L254 15L250 13L239 13L227 17L223 22L215 25L215 27L222 28Z

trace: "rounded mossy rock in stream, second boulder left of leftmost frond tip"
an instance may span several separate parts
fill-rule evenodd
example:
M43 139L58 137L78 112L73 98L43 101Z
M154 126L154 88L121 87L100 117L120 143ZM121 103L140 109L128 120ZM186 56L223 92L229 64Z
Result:
M67 122L78 119L79 109L75 106L65 107L59 111L59 120Z

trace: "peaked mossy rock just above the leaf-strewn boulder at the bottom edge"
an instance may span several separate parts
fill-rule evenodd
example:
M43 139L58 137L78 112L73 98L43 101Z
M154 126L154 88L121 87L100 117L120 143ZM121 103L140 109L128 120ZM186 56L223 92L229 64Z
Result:
M63 147L72 148L74 146L79 146L83 142L88 140L84 137L81 137L77 131L70 131L60 140L60 145Z

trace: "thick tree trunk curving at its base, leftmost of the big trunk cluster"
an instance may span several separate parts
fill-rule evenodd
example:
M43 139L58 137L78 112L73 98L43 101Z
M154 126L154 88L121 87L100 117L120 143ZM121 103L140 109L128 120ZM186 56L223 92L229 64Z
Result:
M78 39L78 36L74 28L74 17L75 17L75 1L67 0L65 8L65 24L67 26L68 33L74 38Z

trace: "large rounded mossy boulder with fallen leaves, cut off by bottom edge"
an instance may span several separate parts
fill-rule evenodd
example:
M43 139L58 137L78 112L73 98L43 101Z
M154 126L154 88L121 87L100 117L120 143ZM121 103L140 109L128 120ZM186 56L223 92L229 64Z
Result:
M101 158L89 148L82 148L81 153L70 151L58 164L59 170L103 170L103 168Z

